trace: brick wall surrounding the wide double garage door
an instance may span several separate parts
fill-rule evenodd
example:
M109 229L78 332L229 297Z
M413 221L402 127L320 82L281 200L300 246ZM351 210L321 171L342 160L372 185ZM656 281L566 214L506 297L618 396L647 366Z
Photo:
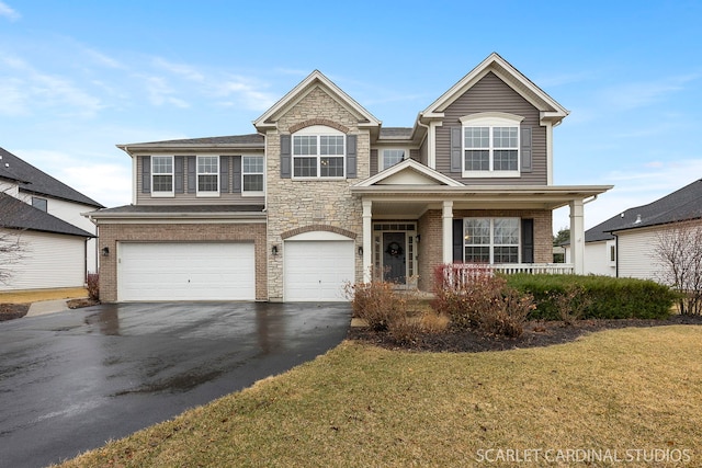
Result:
M256 299L267 300L265 224L144 224L100 225L100 298L117 300L117 242L253 242L256 254Z

